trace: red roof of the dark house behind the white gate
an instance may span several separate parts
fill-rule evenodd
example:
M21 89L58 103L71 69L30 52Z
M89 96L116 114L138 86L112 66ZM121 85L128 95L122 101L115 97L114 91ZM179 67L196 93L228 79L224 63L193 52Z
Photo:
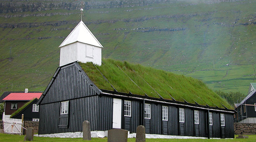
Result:
M8 96L3 98L3 101L29 101L34 98L39 99L42 93L10 93Z

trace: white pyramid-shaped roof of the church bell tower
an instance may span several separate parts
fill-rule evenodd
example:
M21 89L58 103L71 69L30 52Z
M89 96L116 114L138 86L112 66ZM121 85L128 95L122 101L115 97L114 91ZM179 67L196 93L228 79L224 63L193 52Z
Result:
M83 21L80 21L66 39L60 44L59 47L72 44L74 42L82 42L85 44L98 46L103 48L98 39L92 34Z

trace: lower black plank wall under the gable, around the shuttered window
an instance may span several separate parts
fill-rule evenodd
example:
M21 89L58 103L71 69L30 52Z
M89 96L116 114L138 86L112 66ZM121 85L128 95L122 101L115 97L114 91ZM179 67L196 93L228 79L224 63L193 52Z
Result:
M60 102L42 104L38 134L55 134L63 132L81 132L82 123L88 120L91 130L97 130L98 96L78 98L69 101L68 128L58 128Z

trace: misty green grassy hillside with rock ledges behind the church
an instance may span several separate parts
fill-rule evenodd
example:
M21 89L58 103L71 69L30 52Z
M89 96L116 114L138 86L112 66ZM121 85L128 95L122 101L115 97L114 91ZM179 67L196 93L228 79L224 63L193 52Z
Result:
M246 94L255 82L255 0L0 3L0 92L45 89L81 7L104 58L201 79L214 90Z

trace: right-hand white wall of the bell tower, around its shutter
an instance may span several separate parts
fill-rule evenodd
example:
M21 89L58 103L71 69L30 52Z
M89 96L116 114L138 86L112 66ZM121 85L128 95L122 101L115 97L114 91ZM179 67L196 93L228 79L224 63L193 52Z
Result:
M86 44L76 42L78 44L77 60L82 63L93 62L94 64L101 65L101 48L93 46L93 58L86 56ZM89 45L92 46L92 45Z

